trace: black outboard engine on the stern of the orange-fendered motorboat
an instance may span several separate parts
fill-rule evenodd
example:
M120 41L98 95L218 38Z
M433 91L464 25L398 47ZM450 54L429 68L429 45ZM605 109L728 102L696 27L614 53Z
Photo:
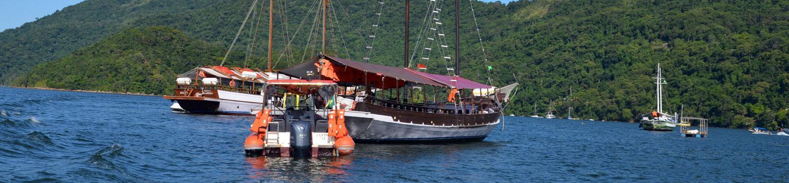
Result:
M291 156L305 158L312 156L312 122L299 120L290 123Z

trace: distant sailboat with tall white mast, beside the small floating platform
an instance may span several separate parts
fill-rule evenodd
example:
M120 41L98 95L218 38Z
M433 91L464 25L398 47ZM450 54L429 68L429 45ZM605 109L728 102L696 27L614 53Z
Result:
M652 131L674 131L674 128L677 126L677 118L663 112L662 84L666 84L666 82L660 74L660 64L657 64L657 77L653 77L653 79L657 80L655 83L657 85L655 90L657 95L657 110L652 111L651 114L641 115L641 124L638 125L638 128Z

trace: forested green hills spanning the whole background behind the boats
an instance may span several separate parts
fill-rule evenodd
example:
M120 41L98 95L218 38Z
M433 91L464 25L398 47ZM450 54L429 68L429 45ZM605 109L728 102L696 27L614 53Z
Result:
M111 62L99 59L105 57L133 61L127 56L94 51L100 50L102 45L109 45L103 43L118 42L118 39L77 50L129 28L143 28L135 29L137 31L158 25L177 28L186 37L211 45L206 47L226 49L251 2L87 1L69 6L39 21L0 33L0 43L4 43L0 45L0 82L9 84L9 80L17 78L14 85L30 86L36 85L33 81L48 80L43 76L36 77L36 73L47 73L43 70L61 72L56 65L92 61L95 63L90 66L100 68ZM280 3L277 7L287 8L278 10L278 14L286 15L287 20L283 17L275 19L275 26L279 27L275 34L277 53L283 50L282 45L288 40L282 30L288 30L290 36L300 39L317 36L304 33L309 29L297 33L302 17L313 15L308 13L312 1L275 2ZM329 54L361 61L366 56L365 47L372 45L376 49L371 62L401 65L404 43L402 3L383 1L386 5L380 11L382 17L376 21L374 15L379 13L379 6L375 1L331 2L337 9L334 13L338 19L333 21L335 27L330 25L330 30L335 31L330 34ZM417 34L420 28L424 28L422 20L427 13L424 10L428 2L412 1L412 46L421 41ZM521 82L516 102L507 108L507 114L532 114L535 104L538 112L543 114L548 103L554 101L555 114L562 117L566 117L567 110L574 107L573 116L576 118L635 120L639 114L652 111L656 106L654 80L650 77L656 75L656 65L660 63L668 81L664 86L664 109L667 111L679 113L683 104L686 116L711 118L712 125L732 128L789 126L789 110L786 110L789 108L787 1L537 0L510 2L506 6L474 1L473 13L469 13L469 2L461 2L462 75L482 81L486 78L484 68L492 65L494 84L501 86L515 80ZM443 2L441 8L443 24L454 24L452 3ZM480 51L473 15L478 20L481 39L487 50L485 54ZM308 19L306 22L313 20L312 17ZM282 27L284 21L290 23L287 29ZM376 22L381 28L371 29L370 25ZM266 28L266 23L263 21L260 26ZM312 24L305 25L307 28L310 26ZM249 38L254 36L249 29L252 29L250 25L241 36L245 39L237 43L240 47L237 50L243 52L251 43ZM367 39L372 31L376 32L374 42ZM443 31L447 37L454 37L451 27L447 26ZM128 32L121 33L124 34ZM294 39L294 53L282 57L279 68L301 62L304 55L315 53L314 46L308 46L306 40L300 39ZM135 43L131 39L122 42ZM259 39L258 43L265 41ZM133 47L131 44L126 46ZM451 39L446 44L454 49ZM174 73L161 73L163 76L203 63L216 64L220 59L216 57L223 54L222 49L201 50L204 51L202 54L201 51L181 51L196 55L159 52L155 57L213 60L169 65ZM66 56L69 53L73 55ZM251 58L256 61L266 54L260 50L252 53ZM230 62L246 63L242 54L234 55ZM432 55L436 58L434 60L440 60L440 56ZM487 64L483 62L484 56L489 60ZM43 62L52 63L36 66L25 75L27 77L17 77ZM263 62L249 64L264 65ZM443 63L432 62L428 68L438 73L436 71L443 69ZM78 82L86 73L63 74L59 76ZM140 78L149 77L148 74L151 73L131 72L123 76ZM166 82L169 82L166 80L170 77L174 76L159 77L162 85L140 84L135 87L140 87L138 91L141 92L164 93L167 92ZM101 77L97 79L98 83L111 83ZM47 86L68 88L66 86L70 83L66 79L50 79ZM93 85L80 87L105 89L93 88ZM129 87L110 87L110 90L124 91Z

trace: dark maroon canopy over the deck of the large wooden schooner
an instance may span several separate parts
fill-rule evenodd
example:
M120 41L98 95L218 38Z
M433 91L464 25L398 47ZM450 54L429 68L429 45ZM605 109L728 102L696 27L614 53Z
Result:
M334 80L342 85L370 84L372 87L382 89L401 88L406 86L406 82L439 87L451 86L414 73L411 69L354 62L330 56L312 58L279 72L303 79ZM308 75L308 72L312 72L312 76Z

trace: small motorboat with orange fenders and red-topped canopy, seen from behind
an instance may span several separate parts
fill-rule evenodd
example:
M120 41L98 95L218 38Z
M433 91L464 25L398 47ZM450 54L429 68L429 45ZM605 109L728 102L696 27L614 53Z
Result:
M331 80L269 80L262 88L266 105L244 142L246 155L332 157L353 153Z

